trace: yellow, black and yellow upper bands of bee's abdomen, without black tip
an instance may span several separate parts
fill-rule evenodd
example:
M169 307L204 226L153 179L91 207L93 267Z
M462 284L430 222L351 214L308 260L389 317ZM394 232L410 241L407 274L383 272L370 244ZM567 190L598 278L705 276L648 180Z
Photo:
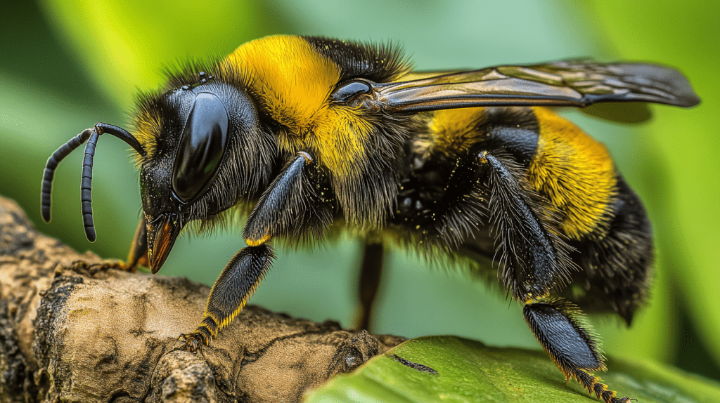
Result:
M472 152L508 154L547 200L558 231L580 239L606 228L616 170L603 144L546 108L490 107L438 111L428 125L428 159Z

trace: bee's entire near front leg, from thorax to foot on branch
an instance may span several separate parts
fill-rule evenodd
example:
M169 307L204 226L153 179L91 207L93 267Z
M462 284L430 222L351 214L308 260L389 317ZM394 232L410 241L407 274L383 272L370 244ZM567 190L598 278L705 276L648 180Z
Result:
M233 256L215 281L197 328L180 336L190 351L207 346L246 305L275 257L268 241L302 225L297 221L304 218L307 198L314 194L312 183L303 183L308 182L303 177L310 164L310 154L297 153L258 200L243 231L248 246Z

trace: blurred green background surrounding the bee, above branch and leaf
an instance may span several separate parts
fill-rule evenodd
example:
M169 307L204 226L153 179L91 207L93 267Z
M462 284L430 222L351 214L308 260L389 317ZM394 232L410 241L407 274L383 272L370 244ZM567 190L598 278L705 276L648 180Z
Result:
M161 85L163 65L226 54L269 34L319 34L404 45L417 68L480 68L570 57L652 60L688 75L697 108L652 106L649 124L623 126L568 111L606 143L654 223L652 300L630 330L593 318L611 356L673 363L720 379L720 102L717 1L120 1L5 4L0 17L0 193L40 231L78 251L124 259L138 222L138 175L127 146L100 142L94 168L98 241L81 225L81 152L57 172L53 223L40 220L45 160L97 121L128 126L140 90ZM212 284L240 232L181 238L162 275ZM353 323L360 245L279 251L252 303L312 320ZM521 307L462 274L394 252L382 279L374 331L454 334L497 346L539 348ZM201 312L192 313L199 315ZM612 369L612 363L610 363Z

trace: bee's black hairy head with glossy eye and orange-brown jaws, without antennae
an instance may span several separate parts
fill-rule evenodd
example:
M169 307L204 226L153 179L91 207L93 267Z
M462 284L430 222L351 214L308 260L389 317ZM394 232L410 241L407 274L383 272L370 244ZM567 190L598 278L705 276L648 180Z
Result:
M275 145L248 93L221 80L141 99L135 126L148 150L140 193L155 272L186 223L210 220L266 184Z

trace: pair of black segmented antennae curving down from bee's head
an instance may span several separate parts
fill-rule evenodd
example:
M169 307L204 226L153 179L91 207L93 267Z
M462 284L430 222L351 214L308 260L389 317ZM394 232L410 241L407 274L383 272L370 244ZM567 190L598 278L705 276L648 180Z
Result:
M93 129L85 129L81 134L73 137L66 144L63 144L63 146L57 151L53 152L53 155L48 158L48 163L45 165L45 173L42 175L42 201L40 203L40 210L42 213L42 219L46 223L49 223L55 169L58 165L60 165L63 158L67 157L68 154L73 152L74 149L80 147L80 145L84 142L88 142L85 147L85 157L83 159L80 192L85 236L88 238L88 241L91 242L94 242L96 238L95 226L92 219L92 165L95 157L97 139L100 134L103 133L112 134L118 139L121 139L123 142L130 144L130 147L135 149L135 151L143 157L147 154L145 149L143 149L143 146L140 145L140 142L138 142L138 139L135 139L135 137L133 137L132 134L127 132L125 129L121 129L118 126L112 126L112 124L98 123Z

